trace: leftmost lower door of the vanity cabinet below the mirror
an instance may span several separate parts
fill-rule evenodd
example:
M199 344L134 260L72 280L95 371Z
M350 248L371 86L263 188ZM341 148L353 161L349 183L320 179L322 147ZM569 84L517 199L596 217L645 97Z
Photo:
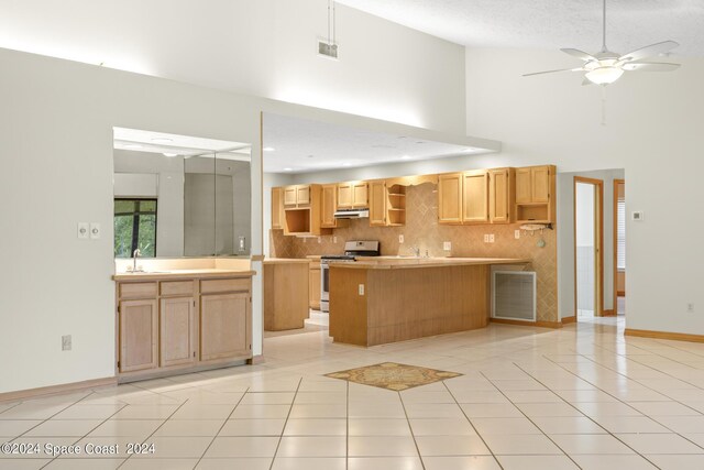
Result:
M158 310L155 299L120 302L120 372L158 365Z

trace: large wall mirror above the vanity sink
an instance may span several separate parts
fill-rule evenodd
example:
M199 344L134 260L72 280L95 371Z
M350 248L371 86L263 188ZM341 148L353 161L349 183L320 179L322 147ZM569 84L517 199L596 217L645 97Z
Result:
M251 144L114 128L114 256L250 254Z

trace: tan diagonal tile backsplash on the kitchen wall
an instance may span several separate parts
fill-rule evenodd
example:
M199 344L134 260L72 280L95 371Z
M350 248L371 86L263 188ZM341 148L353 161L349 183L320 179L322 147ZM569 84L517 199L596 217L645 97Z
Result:
M320 238L285 237L283 230L271 230L271 255L276 258L305 258L310 254L341 254L348 240L378 240L382 254L410 255L413 248L430 256L526 258L532 260L527 267L537 272L538 320L558 320L557 234L520 231L519 225L447 226L438 223L437 186L422 184L406 189L406 226L370 227L369 219L352 219L350 226L333 230L332 236ZM404 243L398 237L404 236ZM484 234L494 234L494 243L485 243ZM333 241L337 238L337 243ZM538 247L543 240L544 247ZM443 251L443 242L452 243Z

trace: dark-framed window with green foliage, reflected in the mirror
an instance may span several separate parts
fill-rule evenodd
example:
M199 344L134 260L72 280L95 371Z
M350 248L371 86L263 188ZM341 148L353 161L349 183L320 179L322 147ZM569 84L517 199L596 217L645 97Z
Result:
M114 258L156 255L156 199L114 200Z

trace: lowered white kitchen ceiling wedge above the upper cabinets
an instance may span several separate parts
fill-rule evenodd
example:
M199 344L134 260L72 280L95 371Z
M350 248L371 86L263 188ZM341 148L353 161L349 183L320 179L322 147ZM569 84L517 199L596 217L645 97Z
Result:
M263 139L266 173L319 172L491 152L268 112L264 114Z

